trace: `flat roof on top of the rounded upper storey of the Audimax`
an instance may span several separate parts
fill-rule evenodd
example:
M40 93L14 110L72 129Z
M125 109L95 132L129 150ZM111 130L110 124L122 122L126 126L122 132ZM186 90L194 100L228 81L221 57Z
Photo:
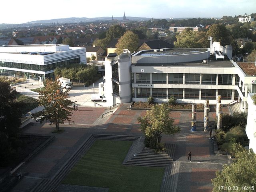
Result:
M166 55L185 55L206 52L207 48L162 48L157 50L143 50L136 56L166 56Z

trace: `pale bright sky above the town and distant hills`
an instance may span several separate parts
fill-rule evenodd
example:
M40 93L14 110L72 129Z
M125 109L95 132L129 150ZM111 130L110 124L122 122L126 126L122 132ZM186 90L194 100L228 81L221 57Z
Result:
M125 15L147 18L221 18L256 13L256 0L12 0L0 2L0 23Z

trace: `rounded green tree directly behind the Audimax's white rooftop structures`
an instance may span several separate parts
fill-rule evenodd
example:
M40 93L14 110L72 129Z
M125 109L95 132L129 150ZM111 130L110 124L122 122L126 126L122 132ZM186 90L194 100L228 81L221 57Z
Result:
M213 41L220 42L222 45L230 44L229 31L222 24L213 24L210 26L207 35L212 36Z

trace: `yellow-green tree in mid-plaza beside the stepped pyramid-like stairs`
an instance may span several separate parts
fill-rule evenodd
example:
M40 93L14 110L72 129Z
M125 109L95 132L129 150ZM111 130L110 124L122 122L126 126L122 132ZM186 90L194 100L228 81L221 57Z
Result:
M140 130L154 140L152 148L158 148L161 134L172 135L180 132L180 128L174 125L174 119L169 116L170 108L166 104L152 106L146 115L138 118Z

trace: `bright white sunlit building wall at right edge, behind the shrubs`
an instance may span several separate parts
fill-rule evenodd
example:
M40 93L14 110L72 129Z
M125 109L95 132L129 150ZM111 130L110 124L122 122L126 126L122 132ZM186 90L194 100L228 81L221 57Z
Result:
M255 93L254 93L255 94ZM246 124L246 134L250 140L249 148L256 152L256 105L253 104L252 93L248 94L248 114Z

